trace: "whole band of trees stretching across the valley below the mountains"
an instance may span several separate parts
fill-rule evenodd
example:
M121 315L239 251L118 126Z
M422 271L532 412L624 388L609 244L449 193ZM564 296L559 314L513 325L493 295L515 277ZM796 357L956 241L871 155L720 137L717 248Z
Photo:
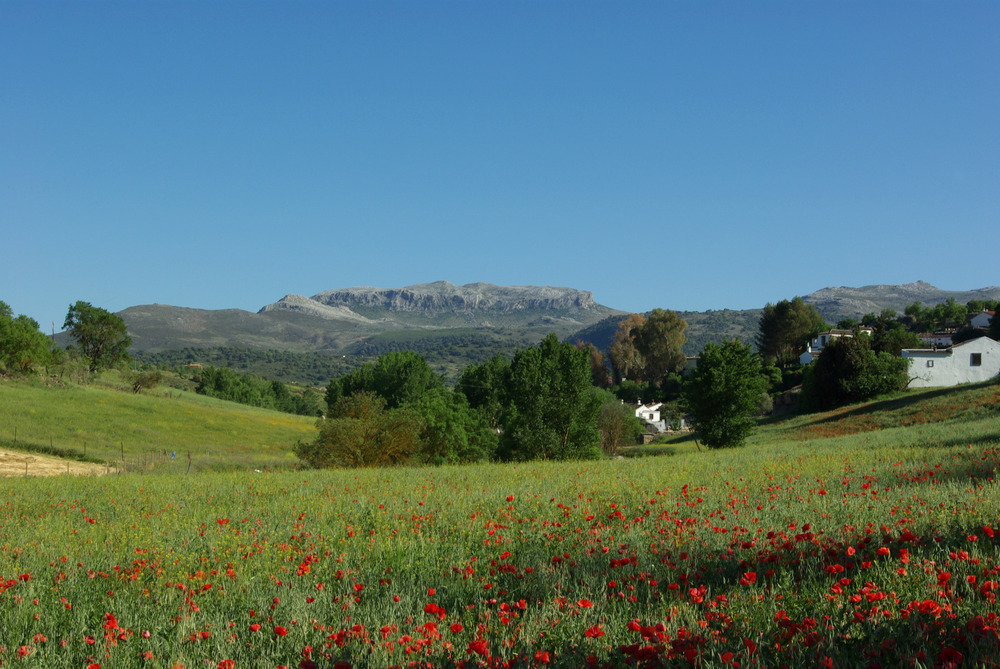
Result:
M756 350L737 340L709 343L693 369L686 369L682 352L687 324L663 309L623 319L607 356L592 344L550 334L512 356L468 365L454 387L420 354L393 351L329 381L319 434L295 451L317 467L594 458L635 443L643 430L636 401L673 402L694 419L701 443L738 446L768 410L769 393L801 382L802 407L812 410L903 389L908 361L899 351L920 345L915 329L963 323L969 311L996 308L990 302L964 310L953 301L938 306L930 315L915 304L903 315L884 310L845 319L838 327L854 329L855 336L833 339L804 369L799 353L830 326L800 297L765 306ZM870 336L859 335L862 326ZM89 370L129 360L131 340L120 317L77 302L64 327L75 342L70 354ZM1000 335L1000 319L993 319L990 335ZM14 317L0 302L5 369L29 371L60 355L65 352L37 323ZM158 381L146 376L136 375L137 392ZM279 381L226 368L205 368L198 382L198 392L245 404L306 415L323 408L318 393L299 395Z

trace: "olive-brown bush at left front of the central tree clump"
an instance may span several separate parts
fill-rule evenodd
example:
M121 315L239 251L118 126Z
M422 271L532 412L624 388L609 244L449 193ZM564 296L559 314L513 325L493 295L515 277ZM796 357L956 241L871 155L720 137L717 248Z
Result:
M319 436L295 445L312 467L386 467L409 461L420 447L420 417L408 408L387 409L385 399L362 390L337 400Z

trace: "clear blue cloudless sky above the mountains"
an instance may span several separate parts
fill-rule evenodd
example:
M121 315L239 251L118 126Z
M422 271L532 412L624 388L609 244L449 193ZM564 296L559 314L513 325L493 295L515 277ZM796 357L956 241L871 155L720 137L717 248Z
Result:
M0 2L0 300L1000 283L1000 2Z

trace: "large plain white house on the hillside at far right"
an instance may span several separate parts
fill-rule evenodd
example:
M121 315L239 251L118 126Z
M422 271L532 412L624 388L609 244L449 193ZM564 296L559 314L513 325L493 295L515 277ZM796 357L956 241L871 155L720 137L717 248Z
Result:
M948 348L907 348L910 387L957 386L988 381L1000 374L1000 343L989 337L970 339Z

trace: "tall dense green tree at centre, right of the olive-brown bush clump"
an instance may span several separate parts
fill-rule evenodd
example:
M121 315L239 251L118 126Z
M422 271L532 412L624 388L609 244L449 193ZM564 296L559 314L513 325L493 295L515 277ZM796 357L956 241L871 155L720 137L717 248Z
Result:
M504 460L566 460L599 454L600 401L588 391L586 351L550 334L510 363L498 455Z

